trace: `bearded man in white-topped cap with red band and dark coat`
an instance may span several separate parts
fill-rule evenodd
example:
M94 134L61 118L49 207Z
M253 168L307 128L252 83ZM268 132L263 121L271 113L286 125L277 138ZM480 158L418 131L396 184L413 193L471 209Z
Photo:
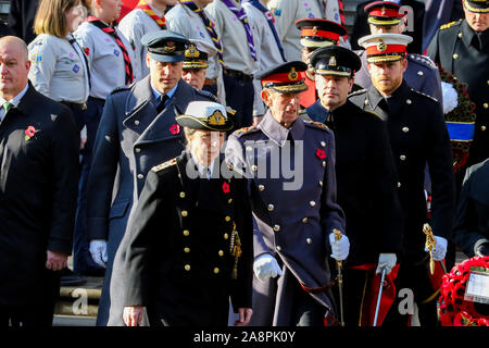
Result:
M404 213L403 252L397 288L413 290L422 325L437 323L435 290L429 281L429 256L424 251L428 222L424 192L425 166L431 178L431 220L436 245L434 260L441 261L451 237L454 212L452 150L438 102L403 79L408 62L406 45L412 38L399 34L375 34L359 42L366 48L372 86L350 95L358 107L375 112L387 122L390 145L399 177L398 188ZM397 301L392 304L398 308ZM408 315L391 310L385 324L405 326Z

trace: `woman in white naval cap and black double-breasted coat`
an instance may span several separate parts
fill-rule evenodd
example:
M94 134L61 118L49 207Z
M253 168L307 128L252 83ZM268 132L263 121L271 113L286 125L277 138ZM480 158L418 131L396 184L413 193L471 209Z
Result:
M151 325L227 326L229 297L249 322L252 284L252 217L243 177L220 157L233 127L223 105L189 103L176 117L186 150L147 176L126 234L124 322Z

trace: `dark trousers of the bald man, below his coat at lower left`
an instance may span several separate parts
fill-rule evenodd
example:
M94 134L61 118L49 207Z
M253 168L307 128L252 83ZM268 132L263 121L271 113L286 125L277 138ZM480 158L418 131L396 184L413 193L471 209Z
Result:
M60 296L60 272L45 270L45 273L42 284L33 288L33 298L26 299L26 304L0 304L0 327L52 326L54 304Z

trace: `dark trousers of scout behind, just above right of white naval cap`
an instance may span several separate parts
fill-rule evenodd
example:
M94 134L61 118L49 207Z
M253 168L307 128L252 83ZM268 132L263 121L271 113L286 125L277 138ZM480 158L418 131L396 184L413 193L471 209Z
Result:
M254 89L252 80L237 79L223 74L226 104L236 110L234 129L249 127L253 123Z

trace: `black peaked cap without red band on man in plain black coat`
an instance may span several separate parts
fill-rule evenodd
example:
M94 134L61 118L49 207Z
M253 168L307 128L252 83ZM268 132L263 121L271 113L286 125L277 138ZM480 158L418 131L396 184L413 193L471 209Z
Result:
M362 62L353 51L340 46L329 46L312 53L311 65L316 75L353 77L362 67Z

